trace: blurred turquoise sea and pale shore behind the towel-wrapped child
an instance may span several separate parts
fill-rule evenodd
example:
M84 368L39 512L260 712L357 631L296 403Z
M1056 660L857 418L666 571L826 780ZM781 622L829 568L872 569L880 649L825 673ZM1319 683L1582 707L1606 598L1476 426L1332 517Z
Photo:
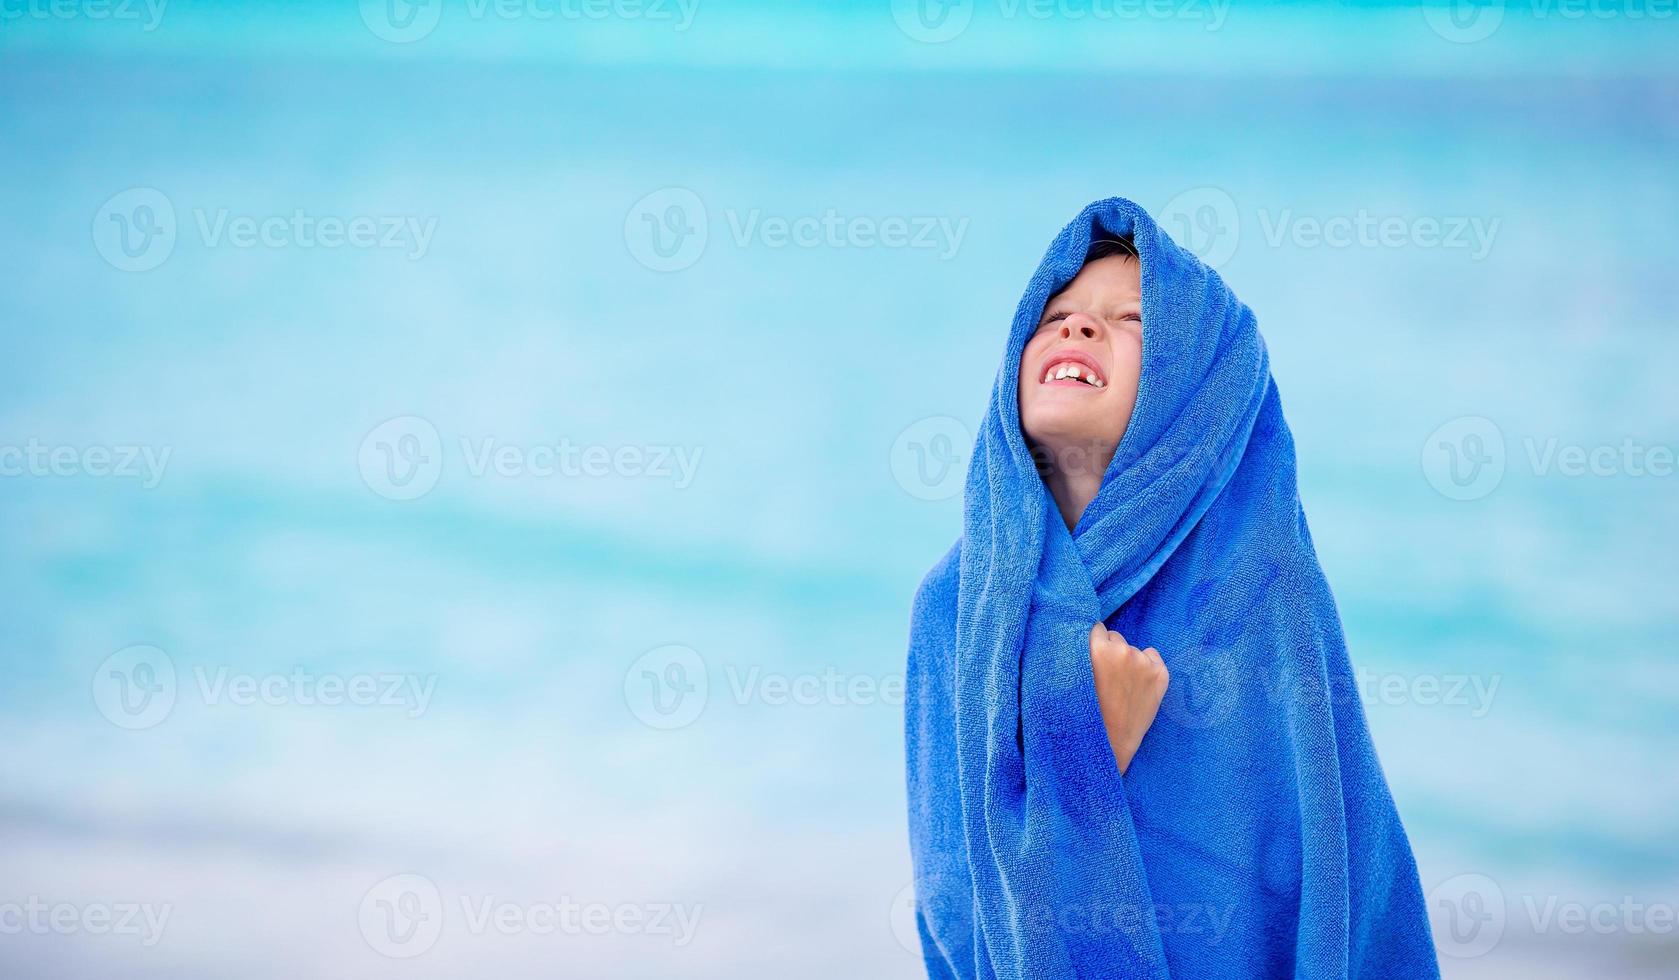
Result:
M1123 195L1259 315L1446 975L1676 975L1676 42L8 0L0 973L918 975L908 601Z

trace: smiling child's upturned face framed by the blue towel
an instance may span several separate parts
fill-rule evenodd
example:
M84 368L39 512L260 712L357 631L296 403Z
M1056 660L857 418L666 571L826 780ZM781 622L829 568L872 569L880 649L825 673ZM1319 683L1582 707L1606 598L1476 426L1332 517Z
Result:
M1143 362L1138 275L1135 257L1108 255L1044 304L1021 352L1021 431L1034 446L1120 445Z

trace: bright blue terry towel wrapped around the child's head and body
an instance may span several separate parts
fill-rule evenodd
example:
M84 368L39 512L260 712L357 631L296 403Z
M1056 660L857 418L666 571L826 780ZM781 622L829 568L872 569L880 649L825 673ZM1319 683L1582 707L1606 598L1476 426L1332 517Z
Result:
M1021 435L1021 351L1122 235L1142 383L1070 534ZM1098 619L1170 671L1125 775ZM1021 297L962 539L915 596L905 728L932 977L1439 977L1254 315L1132 201L1085 208Z

